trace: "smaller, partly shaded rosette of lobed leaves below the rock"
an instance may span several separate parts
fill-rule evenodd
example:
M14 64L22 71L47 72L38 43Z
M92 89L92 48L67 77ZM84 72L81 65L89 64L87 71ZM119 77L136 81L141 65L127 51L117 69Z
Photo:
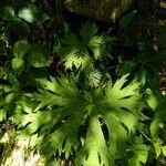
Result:
M65 69L73 66L85 69L102 56L102 48L106 37L97 34L97 28L94 23L83 25L79 35L80 38L69 32L60 42L59 54L65 62Z

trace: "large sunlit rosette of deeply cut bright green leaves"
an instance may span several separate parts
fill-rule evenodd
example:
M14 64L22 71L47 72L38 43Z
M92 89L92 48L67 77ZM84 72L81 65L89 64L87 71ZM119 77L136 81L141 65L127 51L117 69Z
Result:
M39 79L39 92L27 95L29 104L20 103L13 121L35 136L48 159L76 154L76 166L110 166L123 155L139 115L139 83L126 84L126 77L91 91L79 90L72 77Z

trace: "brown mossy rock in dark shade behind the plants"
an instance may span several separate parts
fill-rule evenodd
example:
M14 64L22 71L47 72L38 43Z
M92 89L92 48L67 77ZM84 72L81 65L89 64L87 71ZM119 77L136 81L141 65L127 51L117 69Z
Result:
M71 12L104 22L118 18L131 2L132 0L64 0Z

